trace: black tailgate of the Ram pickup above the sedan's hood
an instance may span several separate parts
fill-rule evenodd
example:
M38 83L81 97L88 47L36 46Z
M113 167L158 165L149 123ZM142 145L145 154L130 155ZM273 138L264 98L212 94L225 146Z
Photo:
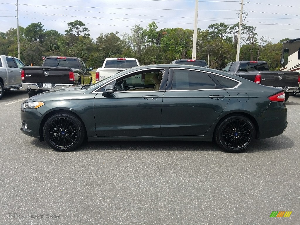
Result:
M25 71L24 83L73 83L69 81L69 71L72 71L68 67L38 67L28 66L23 67Z

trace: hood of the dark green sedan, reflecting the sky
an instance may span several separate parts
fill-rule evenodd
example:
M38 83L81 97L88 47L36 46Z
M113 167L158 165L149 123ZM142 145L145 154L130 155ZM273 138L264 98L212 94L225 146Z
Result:
M75 86L75 87L69 87L69 88L59 88L55 90L50 90L46 92L42 92L41 94L32 96L31 98L28 98L26 102L30 101L43 101L44 99L59 99L59 98L65 98L67 96L74 96L76 98L76 95L82 95L86 89L80 89L82 86Z

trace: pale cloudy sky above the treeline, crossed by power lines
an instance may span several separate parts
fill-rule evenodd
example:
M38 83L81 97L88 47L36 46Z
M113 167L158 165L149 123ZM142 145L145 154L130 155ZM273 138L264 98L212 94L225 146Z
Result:
M0 0L0 31L16 28L17 0ZM208 25L238 22L240 1L199 0L198 28ZM91 38L100 33L131 33L136 24L146 28L155 21L158 30L181 27L193 29L195 0L18 0L19 26L41 22L45 30L64 34L67 23L81 20L90 30ZM244 23L256 27L258 39L276 43L283 38L300 38L300 1L244 0Z

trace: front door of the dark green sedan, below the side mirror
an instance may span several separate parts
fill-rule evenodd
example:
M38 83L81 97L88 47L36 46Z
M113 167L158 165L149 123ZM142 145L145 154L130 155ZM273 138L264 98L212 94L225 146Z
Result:
M102 88L94 103L97 136L161 136L165 86L156 88L153 77L167 76L166 71L142 70L116 79L109 97L102 96Z

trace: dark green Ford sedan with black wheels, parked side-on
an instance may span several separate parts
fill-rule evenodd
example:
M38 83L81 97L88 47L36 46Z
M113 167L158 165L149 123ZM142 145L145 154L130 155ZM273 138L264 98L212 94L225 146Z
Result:
M47 91L21 106L21 131L57 151L101 140L214 140L243 152L283 133L282 89L205 67L133 67L94 85Z

